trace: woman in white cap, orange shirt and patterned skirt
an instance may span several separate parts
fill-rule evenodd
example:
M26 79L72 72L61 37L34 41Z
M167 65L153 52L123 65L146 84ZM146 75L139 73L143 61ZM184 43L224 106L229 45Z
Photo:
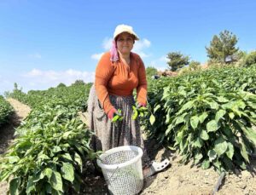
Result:
M88 101L89 125L96 134L92 141L96 150L107 151L125 145L143 148L143 173L149 176L166 168L169 162L150 162L144 150L139 121L131 119L135 105L133 89L137 89L137 105L147 105L145 66L140 56L131 52L136 40L139 37L131 26L116 27L111 51L103 54L96 66L95 85L90 89ZM124 118L114 124L111 120L119 114L118 109Z

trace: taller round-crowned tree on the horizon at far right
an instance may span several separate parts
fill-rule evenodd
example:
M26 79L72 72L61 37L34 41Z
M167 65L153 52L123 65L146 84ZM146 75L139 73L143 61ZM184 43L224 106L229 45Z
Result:
M232 32L224 30L220 32L219 36L214 35L210 46L207 49L207 56L211 60L218 60L219 62L225 63L226 57L229 55L236 54L239 48L236 48L238 39Z

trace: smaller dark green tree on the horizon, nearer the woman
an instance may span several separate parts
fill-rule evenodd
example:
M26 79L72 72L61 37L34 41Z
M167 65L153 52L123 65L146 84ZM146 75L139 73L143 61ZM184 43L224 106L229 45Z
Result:
M189 56L181 54L180 52L170 52L167 54L168 66L170 70L177 71L177 69L182 68L189 64Z

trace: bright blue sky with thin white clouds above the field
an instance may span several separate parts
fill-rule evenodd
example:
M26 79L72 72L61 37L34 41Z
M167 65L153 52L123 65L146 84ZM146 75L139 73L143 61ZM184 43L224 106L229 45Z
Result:
M0 94L15 82L27 91L93 81L119 24L141 38L134 52L145 66L161 70L171 51L204 63L205 47L224 30L249 52L256 49L255 10L253 0L0 0Z

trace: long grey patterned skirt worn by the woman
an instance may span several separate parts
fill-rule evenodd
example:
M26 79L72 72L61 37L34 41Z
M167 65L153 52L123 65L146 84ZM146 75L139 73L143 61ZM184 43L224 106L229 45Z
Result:
M91 146L95 151L107 151L117 146L139 146L143 149L143 166L150 165L150 159L144 148L143 136L138 118L132 120L132 105L135 104L132 95L109 95L112 105L121 109L122 121L111 123L96 96L95 86L92 85L88 99L89 128L95 135Z

